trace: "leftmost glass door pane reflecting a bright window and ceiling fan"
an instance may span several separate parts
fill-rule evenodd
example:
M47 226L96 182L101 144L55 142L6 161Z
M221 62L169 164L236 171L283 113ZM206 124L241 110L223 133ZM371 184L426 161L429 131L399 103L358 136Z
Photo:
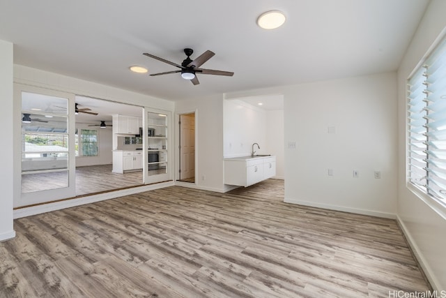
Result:
M23 205L67 198L74 193L70 173L69 97L49 90L21 96L21 193ZM61 191L63 189L63 196ZM45 194L45 195L44 195Z

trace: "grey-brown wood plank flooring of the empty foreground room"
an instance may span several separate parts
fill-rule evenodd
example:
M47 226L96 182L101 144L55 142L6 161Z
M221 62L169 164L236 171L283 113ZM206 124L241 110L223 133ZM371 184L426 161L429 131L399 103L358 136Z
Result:
M285 204L269 179L179 186L14 221L0 297L389 297L424 292L396 221Z

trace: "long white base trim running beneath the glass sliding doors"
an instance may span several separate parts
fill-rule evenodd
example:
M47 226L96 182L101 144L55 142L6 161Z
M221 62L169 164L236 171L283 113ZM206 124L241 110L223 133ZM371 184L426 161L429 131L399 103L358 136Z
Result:
M75 207L83 204L90 204L93 202L100 202L103 200L109 200L113 198L119 198L124 195L133 195L135 193L142 193L144 191L153 191L154 189L166 188L168 186L174 186L174 181L167 181L157 184L150 184L146 186L139 186L134 188L127 188L121 191L112 191L109 193L100 193L98 195L89 195L88 197L82 197L72 200L64 200L60 202L52 202L48 204L40 204L32 207L25 207L14 210L14 218L22 218L26 216L42 214L49 211L56 211L60 209Z

